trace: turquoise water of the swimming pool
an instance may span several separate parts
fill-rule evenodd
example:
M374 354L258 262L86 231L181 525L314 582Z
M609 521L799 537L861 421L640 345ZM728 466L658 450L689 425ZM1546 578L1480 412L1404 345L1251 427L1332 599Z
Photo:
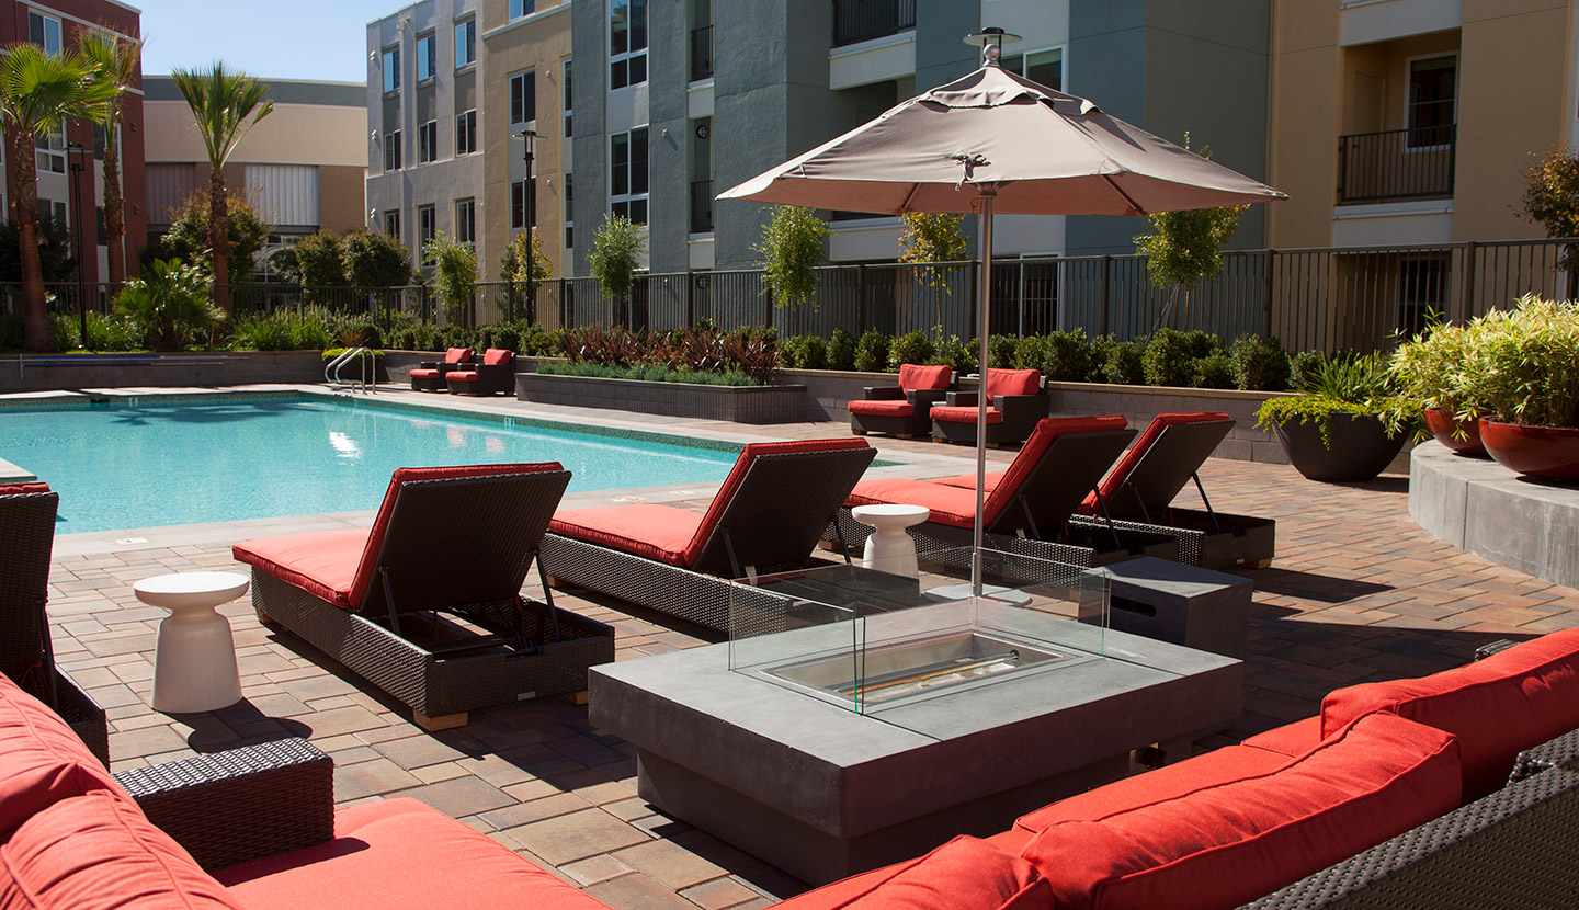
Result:
M570 490L717 482L737 450L317 397L0 408L60 534L377 509L396 468L559 461Z

